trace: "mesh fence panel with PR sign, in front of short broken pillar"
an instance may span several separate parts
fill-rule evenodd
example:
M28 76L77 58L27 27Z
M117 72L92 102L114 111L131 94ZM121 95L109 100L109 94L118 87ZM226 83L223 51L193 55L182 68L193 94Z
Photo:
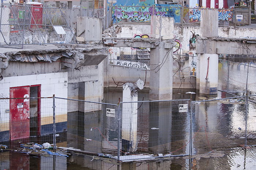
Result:
M148 154L188 154L188 100L125 102L120 106L124 155L121 159L140 159Z

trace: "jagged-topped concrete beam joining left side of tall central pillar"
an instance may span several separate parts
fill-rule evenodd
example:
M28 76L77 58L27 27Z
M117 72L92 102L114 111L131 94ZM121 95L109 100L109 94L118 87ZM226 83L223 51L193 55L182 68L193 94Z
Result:
M104 38L105 46L156 48L161 40L154 38Z

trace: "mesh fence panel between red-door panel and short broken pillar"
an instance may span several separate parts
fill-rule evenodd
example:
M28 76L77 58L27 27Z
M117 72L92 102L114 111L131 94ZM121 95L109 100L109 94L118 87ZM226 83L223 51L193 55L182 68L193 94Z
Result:
M65 122L64 130L67 131L66 142L57 143L57 146L73 147L87 153L117 155L115 112L117 106L114 104L56 98L56 130L59 120ZM56 140L58 138L65 140L61 134L56 136Z

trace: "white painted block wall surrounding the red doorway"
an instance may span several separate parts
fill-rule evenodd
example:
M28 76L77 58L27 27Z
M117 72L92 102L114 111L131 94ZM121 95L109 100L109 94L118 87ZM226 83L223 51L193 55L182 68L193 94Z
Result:
M0 94L9 98L10 87L41 84L41 97L51 97L55 94L56 97L67 98L68 83L65 83L67 80L67 72L5 77L0 82ZM52 116L52 101L52 99L41 99L41 118ZM9 109L9 100L0 100L1 123L9 122L10 113L6 113L6 109ZM56 115L63 114L67 114L67 100L56 99ZM63 120L67 121L65 119Z

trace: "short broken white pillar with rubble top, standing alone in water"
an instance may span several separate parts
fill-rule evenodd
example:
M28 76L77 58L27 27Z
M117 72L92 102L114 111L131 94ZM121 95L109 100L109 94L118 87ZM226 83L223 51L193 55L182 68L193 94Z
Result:
M125 83L123 86L123 103L122 109L122 146L125 151L136 151L137 149L137 108L138 93L143 89L144 82L138 80L136 83Z

